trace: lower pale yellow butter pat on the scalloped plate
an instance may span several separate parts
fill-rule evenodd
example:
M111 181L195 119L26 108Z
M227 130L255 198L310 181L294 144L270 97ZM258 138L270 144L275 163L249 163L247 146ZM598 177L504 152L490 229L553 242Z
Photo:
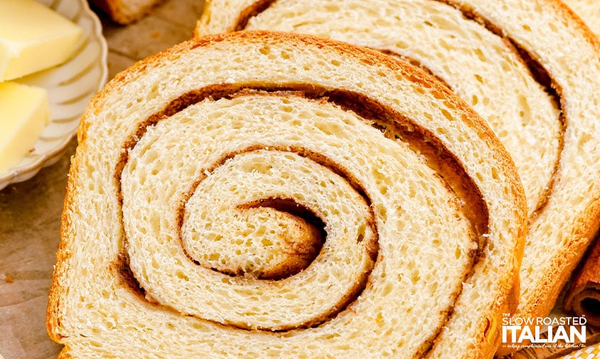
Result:
M0 174L27 155L49 117L45 89L14 82L0 83Z

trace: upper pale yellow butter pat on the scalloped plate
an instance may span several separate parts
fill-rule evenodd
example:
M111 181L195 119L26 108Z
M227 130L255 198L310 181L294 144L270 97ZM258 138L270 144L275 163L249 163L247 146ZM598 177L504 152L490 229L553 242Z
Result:
M0 0L0 81L68 60L80 26L33 0Z

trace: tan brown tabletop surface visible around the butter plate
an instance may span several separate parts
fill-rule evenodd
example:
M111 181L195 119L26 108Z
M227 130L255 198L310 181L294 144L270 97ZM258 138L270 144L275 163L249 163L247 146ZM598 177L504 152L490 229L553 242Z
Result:
M109 46L109 78L136 60L191 37L204 1L169 0L136 24L100 19ZM46 332L46 306L72 140L58 162L31 180L0 191L0 358L56 358Z

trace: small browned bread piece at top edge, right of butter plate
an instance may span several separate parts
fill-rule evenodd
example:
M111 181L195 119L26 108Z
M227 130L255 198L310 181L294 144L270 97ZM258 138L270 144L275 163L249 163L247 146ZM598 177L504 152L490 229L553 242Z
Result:
M164 0L91 0L117 24L128 25L150 14Z

